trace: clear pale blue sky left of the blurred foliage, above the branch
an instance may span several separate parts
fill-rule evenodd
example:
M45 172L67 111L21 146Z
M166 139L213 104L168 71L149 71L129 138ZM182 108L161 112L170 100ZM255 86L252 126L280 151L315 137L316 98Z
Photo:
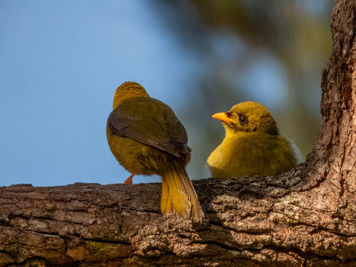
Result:
M146 1L1 1L0 34L0 186L123 182L105 135L116 87L174 110L197 67Z

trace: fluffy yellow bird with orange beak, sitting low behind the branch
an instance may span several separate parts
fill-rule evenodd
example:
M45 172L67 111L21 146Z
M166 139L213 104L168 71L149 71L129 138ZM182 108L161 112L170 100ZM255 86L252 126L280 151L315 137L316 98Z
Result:
M297 145L279 134L261 103L241 102L212 117L223 123L225 138L206 161L209 177L277 176L303 162Z

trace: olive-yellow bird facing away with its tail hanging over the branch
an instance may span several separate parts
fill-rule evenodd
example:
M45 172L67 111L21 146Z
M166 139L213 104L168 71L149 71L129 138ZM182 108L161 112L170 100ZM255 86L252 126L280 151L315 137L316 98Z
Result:
M166 217L204 218L185 170L191 157L188 135L173 110L150 97L137 82L124 82L114 94L106 137L112 154L134 175L162 178L161 212Z

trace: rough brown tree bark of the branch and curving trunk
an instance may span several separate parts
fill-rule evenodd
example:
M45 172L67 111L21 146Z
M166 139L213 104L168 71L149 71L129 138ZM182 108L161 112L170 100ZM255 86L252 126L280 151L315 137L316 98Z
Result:
M315 149L279 177L193 181L203 224L161 184L0 188L2 266L356 266L356 2L337 0Z

